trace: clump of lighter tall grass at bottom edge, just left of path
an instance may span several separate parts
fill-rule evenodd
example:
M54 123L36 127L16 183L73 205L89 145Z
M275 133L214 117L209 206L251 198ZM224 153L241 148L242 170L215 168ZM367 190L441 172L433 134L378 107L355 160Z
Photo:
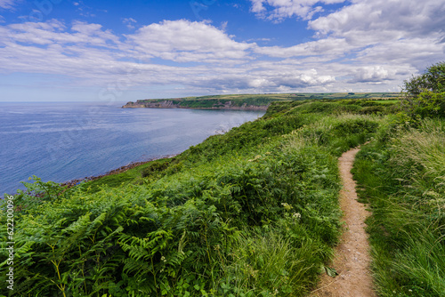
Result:
M315 284L320 262L313 253L320 246L308 238L295 246L279 230L250 231L237 239L224 261L220 281L224 295L303 296Z

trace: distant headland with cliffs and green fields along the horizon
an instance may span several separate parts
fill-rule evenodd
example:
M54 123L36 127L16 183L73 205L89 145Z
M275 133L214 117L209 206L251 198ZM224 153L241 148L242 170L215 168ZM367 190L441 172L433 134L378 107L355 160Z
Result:
M314 100L314 99L397 99L395 92L327 92L327 93L288 93L288 94L232 94L174 99L152 99L127 102L122 108L202 108L202 109L245 109L266 110L273 101Z

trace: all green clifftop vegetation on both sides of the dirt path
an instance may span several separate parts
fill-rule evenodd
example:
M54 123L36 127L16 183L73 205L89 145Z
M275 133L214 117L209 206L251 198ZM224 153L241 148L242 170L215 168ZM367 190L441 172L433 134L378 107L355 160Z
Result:
M340 234L337 157L368 140L354 175L373 211L378 293L444 295L441 102L406 108L443 91L409 85L402 108L355 93L287 98L255 122L126 173L71 189L34 177L14 197L14 296L306 295Z

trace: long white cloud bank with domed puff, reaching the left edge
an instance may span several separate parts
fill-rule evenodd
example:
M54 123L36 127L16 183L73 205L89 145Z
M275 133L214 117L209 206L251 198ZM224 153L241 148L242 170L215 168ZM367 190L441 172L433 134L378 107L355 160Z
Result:
M256 44L238 43L203 22L165 21L141 28L120 43L117 39L101 25L85 22L70 28L57 20L0 26L0 72L71 76L85 86L124 80L128 86L174 84L213 93L277 92L336 80L323 69L255 61ZM146 50L176 62L137 60ZM182 67L183 60L195 65Z

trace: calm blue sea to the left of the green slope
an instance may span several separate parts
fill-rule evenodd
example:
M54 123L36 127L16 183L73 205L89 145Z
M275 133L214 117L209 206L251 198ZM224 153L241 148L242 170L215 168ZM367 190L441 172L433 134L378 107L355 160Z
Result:
M122 105L0 102L1 197L32 175L70 181L177 154L264 113Z

